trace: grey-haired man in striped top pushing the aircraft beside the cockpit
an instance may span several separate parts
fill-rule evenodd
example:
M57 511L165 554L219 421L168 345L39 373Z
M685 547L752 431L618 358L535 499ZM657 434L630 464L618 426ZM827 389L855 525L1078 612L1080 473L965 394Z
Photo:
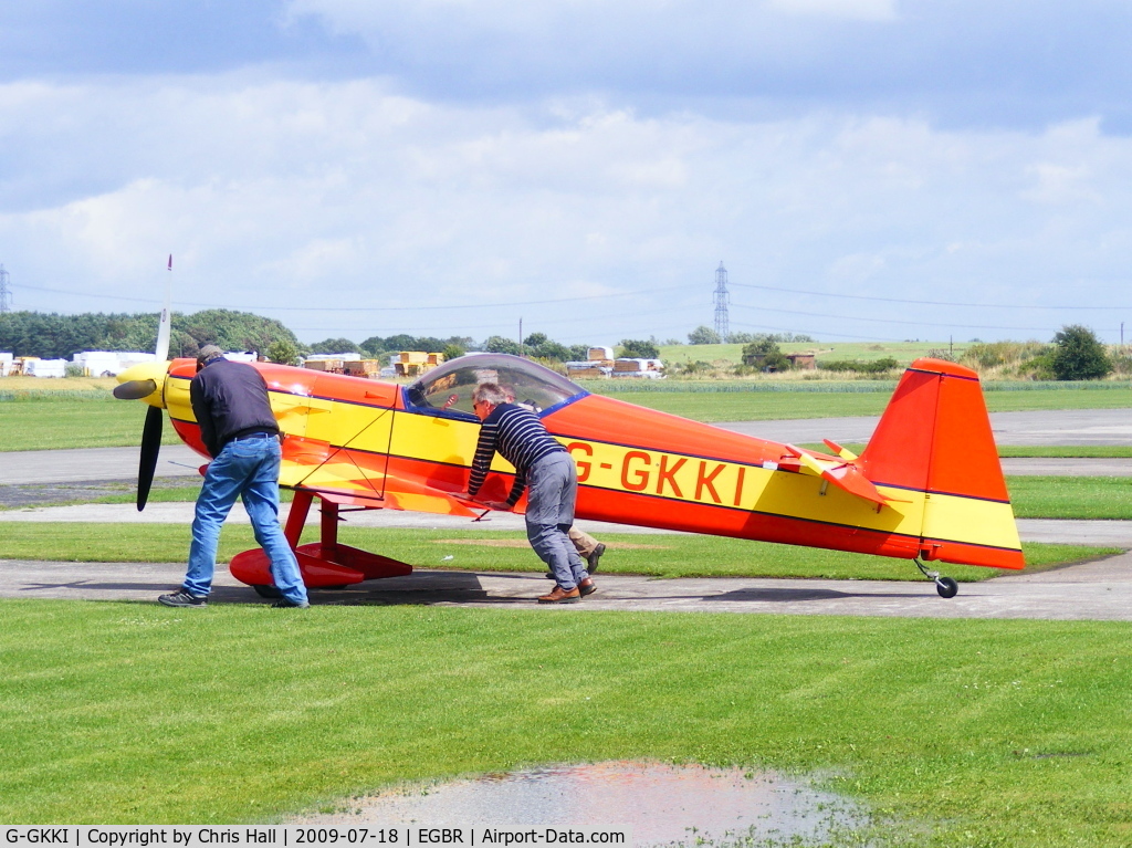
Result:
M530 486L526 499L526 538L555 575L555 588L539 603L573 603L595 586L582 565L567 532L574 523L577 470L565 447L547 432L539 417L516 403L495 383L482 383L472 395L475 414L483 422L472 459L468 494L483 486L498 452L515 466L515 482L506 503L488 506L511 509Z

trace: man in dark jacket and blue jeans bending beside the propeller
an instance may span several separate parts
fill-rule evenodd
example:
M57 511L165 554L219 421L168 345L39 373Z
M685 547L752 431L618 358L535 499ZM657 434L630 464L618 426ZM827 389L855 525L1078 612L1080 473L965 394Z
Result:
M239 496L283 596L273 606L309 607L299 563L280 528L280 429L267 384L251 366L230 362L220 348L206 344L197 356L189 400L213 461L197 497L185 583L157 600L166 607L206 606L220 529Z

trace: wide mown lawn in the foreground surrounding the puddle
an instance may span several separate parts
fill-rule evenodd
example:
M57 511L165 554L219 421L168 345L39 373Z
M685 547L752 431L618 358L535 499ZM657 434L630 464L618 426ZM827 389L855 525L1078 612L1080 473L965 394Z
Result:
M1130 836L1124 623L65 601L0 615L11 824L277 821L402 781L649 759L825 774L889 822L874 843Z

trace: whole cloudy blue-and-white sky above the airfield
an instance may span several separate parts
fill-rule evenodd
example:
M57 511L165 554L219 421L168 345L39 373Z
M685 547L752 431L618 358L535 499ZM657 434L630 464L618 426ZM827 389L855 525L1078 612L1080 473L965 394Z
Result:
M1132 341L1125 0L0 6L12 308ZM174 269L165 271L169 254Z

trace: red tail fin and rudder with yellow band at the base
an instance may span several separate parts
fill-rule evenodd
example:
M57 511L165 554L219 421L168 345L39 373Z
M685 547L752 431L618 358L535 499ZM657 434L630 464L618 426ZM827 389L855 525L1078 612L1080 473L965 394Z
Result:
M925 558L1023 567L975 371L938 359L912 362L857 465L877 486L924 492Z

